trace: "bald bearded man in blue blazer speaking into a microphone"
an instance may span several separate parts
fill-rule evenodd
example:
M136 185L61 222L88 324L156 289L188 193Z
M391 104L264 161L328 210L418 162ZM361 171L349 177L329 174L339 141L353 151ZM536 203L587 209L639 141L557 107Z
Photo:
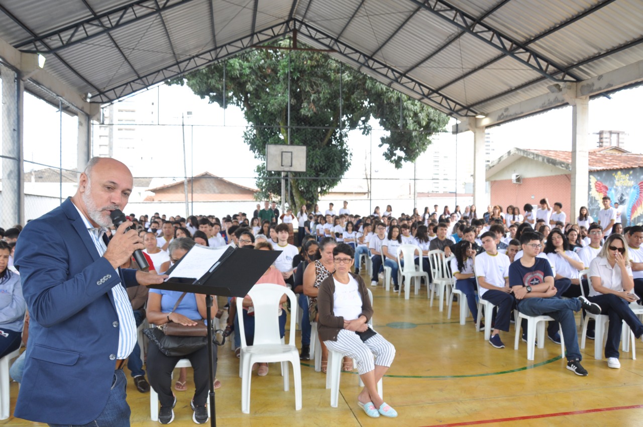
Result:
M119 268L143 249L135 230L125 232L131 222L105 237L109 214L125 208L132 185L123 163L93 158L76 194L24 227L14 264L31 320L16 417L129 426L122 367L136 325L125 287L165 278Z

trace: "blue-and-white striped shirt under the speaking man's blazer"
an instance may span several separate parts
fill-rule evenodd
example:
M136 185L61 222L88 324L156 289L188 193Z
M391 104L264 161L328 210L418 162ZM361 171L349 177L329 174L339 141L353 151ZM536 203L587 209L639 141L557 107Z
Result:
M107 229L105 228L96 228L89 220L80 212L78 206L74 204L78 214L82 218L83 223L87 227L87 232L91 237L91 240L96 246L96 251L98 255L102 257L107 251L107 245L103 240L103 236ZM118 275L118 269L114 269ZM129 302L129 297L127 296L127 291L122 286L122 284L117 284L112 289L112 296L114 297L114 305L116 306L116 314L118 315L118 351L116 352L116 359L127 359L134 350L134 345L136 344L136 321L134 320L134 311L132 311L132 305Z

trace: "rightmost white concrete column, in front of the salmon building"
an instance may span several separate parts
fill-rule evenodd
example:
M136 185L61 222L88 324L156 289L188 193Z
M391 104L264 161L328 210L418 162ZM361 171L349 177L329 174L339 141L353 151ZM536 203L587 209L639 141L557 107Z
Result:
M589 194L589 97L574 98L572 104L572 206L567 217L574 223Z

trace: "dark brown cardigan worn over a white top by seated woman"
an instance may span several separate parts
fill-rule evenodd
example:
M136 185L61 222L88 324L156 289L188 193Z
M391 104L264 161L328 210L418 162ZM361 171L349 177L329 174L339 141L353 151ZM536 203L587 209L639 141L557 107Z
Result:
M368 298L368 291L364 280L358 275L349 273L355 280L358 281L358 291L362 298L362 312L360 316L365 316L366 320L370 320L373 316L373 306L370 304ZM320 290L317 295L317 309L320 314L320 321L317 323L317 332L321 341L337 341L337 335L341 329L344 329L344 318L342 316L335 316L333 305L335 302L335 281L330 275L321 282Z

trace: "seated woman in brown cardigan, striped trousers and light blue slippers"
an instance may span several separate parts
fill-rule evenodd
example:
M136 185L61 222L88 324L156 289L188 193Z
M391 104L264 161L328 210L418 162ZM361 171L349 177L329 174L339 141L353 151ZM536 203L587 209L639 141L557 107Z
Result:
M332 255L335 271L321 282L317 297L320 340L329 349L356 359L364 382L358 394L359 407L369 417L397 417L377 393L377 381L393 363L395 347L368 325L373 307L364 280L350 273L353 249L340 243Z

